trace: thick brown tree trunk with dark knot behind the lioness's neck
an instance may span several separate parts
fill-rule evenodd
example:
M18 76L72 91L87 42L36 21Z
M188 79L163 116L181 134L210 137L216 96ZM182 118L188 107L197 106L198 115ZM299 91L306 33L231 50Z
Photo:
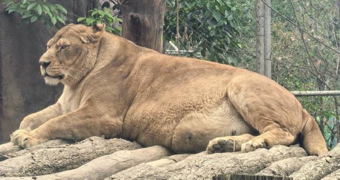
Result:
M162 52L166 0L121 0L122 37Z

